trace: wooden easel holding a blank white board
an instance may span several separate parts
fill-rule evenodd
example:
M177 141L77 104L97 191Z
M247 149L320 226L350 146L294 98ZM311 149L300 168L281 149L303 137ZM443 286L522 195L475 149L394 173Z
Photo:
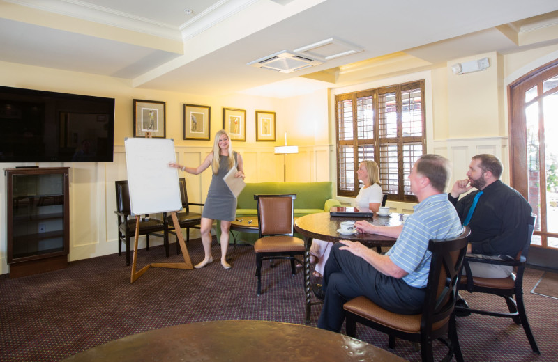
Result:
M176 161L174 141L172 139L153 139L151 134L146 134L144 139L125 139L124 145L130 189L130 209L136 222L130 283L140 278L149 267L194 269L176 217L176 211L182 209L178 171L176 168L168 166L169 162ZM144 214L159 212L171 214L184 262L153 262L136 272L140 217Z

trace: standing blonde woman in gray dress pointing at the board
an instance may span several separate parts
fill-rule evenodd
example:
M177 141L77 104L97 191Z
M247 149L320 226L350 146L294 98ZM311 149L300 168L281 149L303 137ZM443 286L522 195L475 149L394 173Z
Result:
M221 265L225 269L230 269L227 262L227 247L229 246L229 229L231 221L234 221L236 214L236 198L231 190L225 184L223 177L231 168L236 166L238 172L234 174L235 178L244 178L244 168L242 157L238 152L232 150L229 135L221 129L215 135L215 143L213 143L213 152L204 159L201 165L194 167L186 167L171 162L169 166L180 168L182 171L199 175L211 165L213 177L207 192L207 198L202 212L202 223L200 224L200 233L202 233L202 243L204 244L205 258L197 264L196 268L202 268L213 262L211 255L211 226L213 220L221 221Z

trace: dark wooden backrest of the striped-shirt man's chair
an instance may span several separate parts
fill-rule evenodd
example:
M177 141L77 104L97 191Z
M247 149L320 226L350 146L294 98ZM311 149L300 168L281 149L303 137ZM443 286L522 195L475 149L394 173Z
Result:
M432 260L421 320L423 331L432 329L437 322L444 324L453 313L469 234L469 226L464 226L458 237L428 242Z

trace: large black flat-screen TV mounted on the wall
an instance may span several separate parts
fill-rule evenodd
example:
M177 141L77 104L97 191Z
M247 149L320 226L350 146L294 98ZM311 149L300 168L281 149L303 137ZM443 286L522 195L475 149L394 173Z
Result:
M0 86L0 162L112 162L114 98Z

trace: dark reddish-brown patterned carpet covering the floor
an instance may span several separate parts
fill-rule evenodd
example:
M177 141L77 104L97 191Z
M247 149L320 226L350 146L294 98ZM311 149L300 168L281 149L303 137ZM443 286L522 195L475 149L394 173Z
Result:
M174 251L174 244L170 250ZM202 260L199 240L188 244L193 263ZM218 262L203 269L150 268L130 284L124 257L107 255L71 262L67 269L9 279L0 276L0 361L59 361L133 333L206 320L273 320L303 323L303 273L289 273L286 260L270 269L264 262L262 292L255 293L255 257L240 245L232 269ZM180 262L165 258L163 247L140 250L138 269L150 262ZM558 300L531 294L543 272L529 269L525 279L527 313L541 356L533 354L521 326L511 320L472 315L458 319L458 335L466 361L557 361ZM502 304L465 292L469 305ZM315 326L321 306L312 307ZM503 309L502 309L503 310ZM344 331L342 331L344 333ZM387 336L359 326L357 336L387 348ZM391 352L420 361L410 343L398 340ZM435 358L445 347L435 343ZM324 356L322 361L328 361ZM249 361L247 361L249 362ZM317 361L321 362L321 361Z

